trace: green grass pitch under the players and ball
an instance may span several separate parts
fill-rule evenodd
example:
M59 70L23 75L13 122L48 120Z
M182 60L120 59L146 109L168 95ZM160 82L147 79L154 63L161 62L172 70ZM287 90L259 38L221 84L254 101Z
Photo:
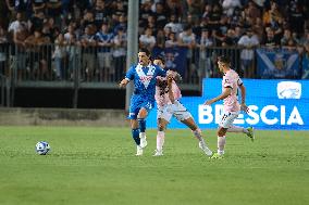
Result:
M135 156L128 128L0 127L0 204L309 204L309 132L231 133L224 159L209 159L189 130L154 130ZM214 151L214 130L205 130ZM52 151L35 153L37 141Z

